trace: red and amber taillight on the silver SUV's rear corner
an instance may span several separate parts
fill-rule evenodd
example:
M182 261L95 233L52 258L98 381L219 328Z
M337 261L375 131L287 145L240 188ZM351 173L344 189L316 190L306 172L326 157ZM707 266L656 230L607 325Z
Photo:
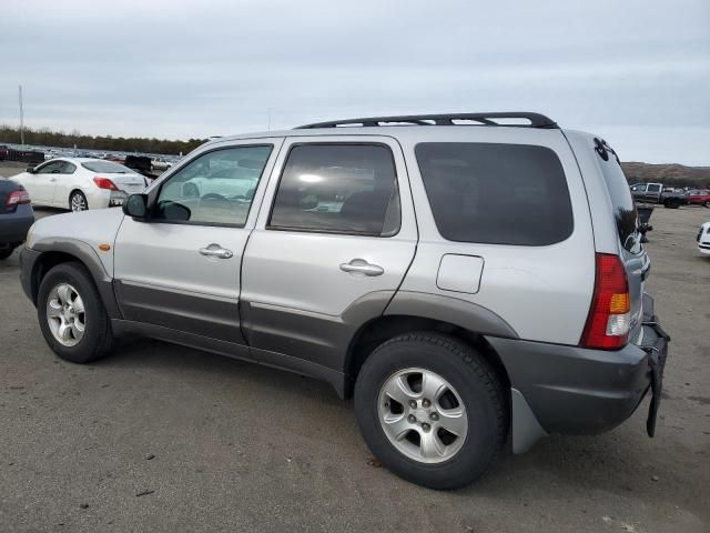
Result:
M631 299L626 269L618 255L597 253L591 309L581 335L584 348L618 350L629 341Z

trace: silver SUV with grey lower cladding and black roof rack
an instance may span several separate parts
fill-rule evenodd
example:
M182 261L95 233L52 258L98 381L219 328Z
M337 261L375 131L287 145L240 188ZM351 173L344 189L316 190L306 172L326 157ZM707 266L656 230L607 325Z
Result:
M537 113L216 139L123 210L37 222L21 263L60 358L139 333L325 380L429 487L649 390L655 431L669 339L629 188L604 140Z

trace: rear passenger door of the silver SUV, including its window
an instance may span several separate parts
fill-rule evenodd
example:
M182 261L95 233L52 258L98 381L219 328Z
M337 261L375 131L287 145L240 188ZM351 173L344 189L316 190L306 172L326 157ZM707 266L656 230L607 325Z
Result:
M244 330L260 361L342 371L335 341L359 304L382 313L417 232L402 149L386 137L286 140L242 268ZM273 200L272 200L273 199Z

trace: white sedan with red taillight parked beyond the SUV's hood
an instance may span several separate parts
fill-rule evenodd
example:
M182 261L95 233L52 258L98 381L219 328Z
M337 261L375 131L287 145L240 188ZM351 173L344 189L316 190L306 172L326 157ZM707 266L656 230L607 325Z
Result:
M34 205L72 211L121 205L128 194L148 185L128 167L87 158L52 159L10 179L28 190Z

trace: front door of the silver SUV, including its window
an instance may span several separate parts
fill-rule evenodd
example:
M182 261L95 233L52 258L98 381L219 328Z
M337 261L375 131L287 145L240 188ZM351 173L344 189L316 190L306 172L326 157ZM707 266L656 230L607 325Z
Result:
M124 219L114 279L126 320L243 344L242 254L281 143L211 147L151 189L150 221Z

